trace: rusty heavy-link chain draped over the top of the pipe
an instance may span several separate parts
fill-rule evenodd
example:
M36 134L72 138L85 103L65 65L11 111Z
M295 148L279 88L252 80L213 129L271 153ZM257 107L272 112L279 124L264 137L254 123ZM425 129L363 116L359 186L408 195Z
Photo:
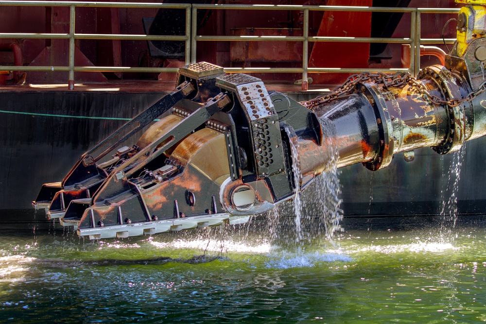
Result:
M469 92L469 94L462 99L451 98L449 100L443 100L442 98L431 94L428 91L427 87L421 82L417 81L417 79L414 78L412 75L410 75L409 72L395 73L395 74L365 72L361 74L351 75L350 77L347 78L347 80L344 82L343 85L337 87L334 91L332 91L327 95L320 96L309 101L300 102L300 104L302 104L303 106L309 109L313 109L318 105L333 101L341 96L352 93L356 89L356 86L360 82L364 82L364 81L369 81L377 85L382 85L384 89L386 89L389 86L400 86L400 85L408 84L411 87L412 86L415 87L421 95L428 97L432 103L436 105L444 104L450 107L456 107L463 102L471 102L474 100L474 98L476 98L477 95L479 95L480 93L486 90L486 81L485 81L476 90Z

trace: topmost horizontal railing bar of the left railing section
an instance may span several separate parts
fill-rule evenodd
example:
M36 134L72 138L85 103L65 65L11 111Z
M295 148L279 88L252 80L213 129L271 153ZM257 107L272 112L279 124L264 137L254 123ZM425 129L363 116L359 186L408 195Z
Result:
M186 9L191 4L151 2L105 2L105 1L0 1L0 6L44 6L44 7L117 7L117 8L170 8Z

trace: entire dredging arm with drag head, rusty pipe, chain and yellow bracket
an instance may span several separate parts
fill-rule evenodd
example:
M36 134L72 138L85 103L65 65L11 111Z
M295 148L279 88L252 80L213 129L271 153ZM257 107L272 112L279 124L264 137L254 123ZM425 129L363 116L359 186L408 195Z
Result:
M185 66L173 92L45 184L33 205L89 239L150 235L246 222L305 190L335 150L338 167L371 171L421 147L455 152L486 134L486 1L469 2L445 66L417 78L363 73L296 102L253 76Z

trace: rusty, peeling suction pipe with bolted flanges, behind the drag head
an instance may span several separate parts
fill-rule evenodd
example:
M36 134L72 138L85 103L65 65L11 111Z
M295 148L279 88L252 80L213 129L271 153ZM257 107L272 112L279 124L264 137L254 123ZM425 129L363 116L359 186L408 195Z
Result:
M301 172L322 172L331 146L339 153L338 168L363 163L372 171L387 167L395 153L405 152L411 161L413 150L421 147L440 154L455 152L465 140L484 135L484 122L474 124L471 102L452 106L431 98L446 102L469 92L459 73L439 65L424 68L416 83L379 87L362 82L354 93L312 110L326 130L322 141L328 145L299 139ZM476 110L481 114L484 108Z

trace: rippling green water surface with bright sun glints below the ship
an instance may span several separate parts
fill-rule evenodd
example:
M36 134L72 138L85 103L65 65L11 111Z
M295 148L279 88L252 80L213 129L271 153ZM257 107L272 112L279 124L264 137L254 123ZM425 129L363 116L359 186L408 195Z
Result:
M486 322L486 218L344 228L300 247L264 226L101 242L0 232L0 323Z

